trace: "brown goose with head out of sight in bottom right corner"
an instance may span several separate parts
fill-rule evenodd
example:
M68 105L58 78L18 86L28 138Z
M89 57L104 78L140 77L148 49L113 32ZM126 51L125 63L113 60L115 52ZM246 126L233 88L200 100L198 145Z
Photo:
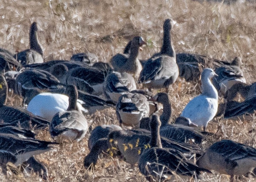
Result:
M214 143L206 153L198 159L197 165L208 170L234 176L245 175L256 167L256 149L231 140Z

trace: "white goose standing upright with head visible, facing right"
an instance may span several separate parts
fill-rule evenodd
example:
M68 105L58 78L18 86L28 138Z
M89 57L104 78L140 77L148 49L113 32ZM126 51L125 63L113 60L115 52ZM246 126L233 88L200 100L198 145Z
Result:
M201 76L203 93L187 104L181 116L189 118L198 126L204 126L205 130L208 122L214 118L218 110L218 92L210 80L217 74L211 68L206 68Z

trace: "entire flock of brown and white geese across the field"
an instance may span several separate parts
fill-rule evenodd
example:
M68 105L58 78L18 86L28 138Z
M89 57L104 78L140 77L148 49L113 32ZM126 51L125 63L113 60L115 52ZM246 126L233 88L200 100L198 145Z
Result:
M227 62L176 54L171 42L172 25L171 19L164 21L161 52L147 60L137 58L146 42L134 37L110 64L99 62L92 53L75 54L69 61L44 62L36 22L30 28L30 49L17 54L0 49L2 172L7 173L9 162L25 164L25 170L47 179L46 166L34 155L57 151L62 142L80 141L88 130L85 114L109 107L116 109L120 125L96 126L91 131L85 168L95 165L105 152L138 164L148 181L161 181L173 174L200 178L201 172L210 170L228 174L234 181L235 175L255 172L256 149L252 147L231 140L216 142L205 151L201 146L211 136L207 124L217 113L234 118L254 112L255 83L246 83L240 58ZM187 82L201 78L202 94L186 105L175 124L169 124L168 88L178 77ZM137 89L138 84L147 90ZM160 88L165 92L151 92ZM23 98L24 108L6 105L11 90ZM233 100L238 93L243 102ZM226 102L218 107L220 96ZM44 128L49 129L54 142L35 139L35 131Z

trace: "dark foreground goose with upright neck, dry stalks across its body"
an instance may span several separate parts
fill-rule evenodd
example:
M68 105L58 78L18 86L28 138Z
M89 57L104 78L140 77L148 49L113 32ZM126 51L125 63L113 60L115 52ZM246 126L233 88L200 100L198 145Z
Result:
M142 152L138 161L140 172L148 181L151 181L151 179L160 181L167 178L168 175L173 175L173 172L178 175L196 175L197 178L200 171L210 172L189 162L180 151L163 148L159 134L160 126L159 116L153 114L150 122L150 148Z

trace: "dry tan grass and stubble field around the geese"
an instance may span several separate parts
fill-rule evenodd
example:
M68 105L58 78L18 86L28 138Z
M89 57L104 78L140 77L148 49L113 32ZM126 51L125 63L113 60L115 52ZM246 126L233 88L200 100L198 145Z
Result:
M253 0L0 0L0 47L13 53L29 48L29 28L36 21L45 61L69 60L75 53L88 51L95 53L100 61L108 62L111 56L122 52L134 35L141 35L147 42L139 53L140 59L146 59L161 48L166 18L177 22L171 31L176 53L196 53L219 60L240 56L247 82L256 81L256 2ZM199 88L197 83L187 83L181 78L170 87L172 121L200 93ZM21 106L21 99L10 94L7 104ZM92 128L118 123L112 108L87 118ZM232 139L256 148L255 132L248 133L255 126L254 115L237 120L215 118L207 128L215 134L204 141L204 147L221 139ZM89 134L79 143L60 145L57 152L36 156L47 166L49 181L146 181L136 165L108 155L102 155L93 170L86 170L83 159L89 153L88 137ZM52 140L47 130L40 131L39 139ZM227 175L204 173L202 180L197 181L228 179ZM9 171L7 176L0 172L0 181L42 179L36 174ZM169 181L189 179L174 175ZM256 178L238 181L256 181Z

